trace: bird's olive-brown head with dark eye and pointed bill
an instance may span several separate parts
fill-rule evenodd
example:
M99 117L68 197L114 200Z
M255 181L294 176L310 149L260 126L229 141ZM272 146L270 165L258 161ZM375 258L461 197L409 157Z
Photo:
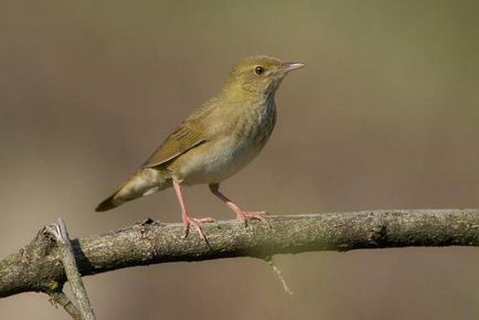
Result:
M304 66L302 63L283 62L266 55L248 56L234 66L226 89L236 94L270 95L290 71Z

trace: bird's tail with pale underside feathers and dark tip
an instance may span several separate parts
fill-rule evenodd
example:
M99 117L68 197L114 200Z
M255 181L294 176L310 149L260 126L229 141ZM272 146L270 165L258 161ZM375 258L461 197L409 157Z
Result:
M172 185L171 175L164 169L145 168L135 173L114 194L95 209L97 212L111 210L127 201L149 195Z

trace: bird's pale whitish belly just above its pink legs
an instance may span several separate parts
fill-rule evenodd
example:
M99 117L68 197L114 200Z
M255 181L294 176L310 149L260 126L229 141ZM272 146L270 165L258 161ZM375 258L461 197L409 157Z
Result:
M174 179L187 185L220 183L253 160L263 146L228 137L198 146L179 157L168 169Z

